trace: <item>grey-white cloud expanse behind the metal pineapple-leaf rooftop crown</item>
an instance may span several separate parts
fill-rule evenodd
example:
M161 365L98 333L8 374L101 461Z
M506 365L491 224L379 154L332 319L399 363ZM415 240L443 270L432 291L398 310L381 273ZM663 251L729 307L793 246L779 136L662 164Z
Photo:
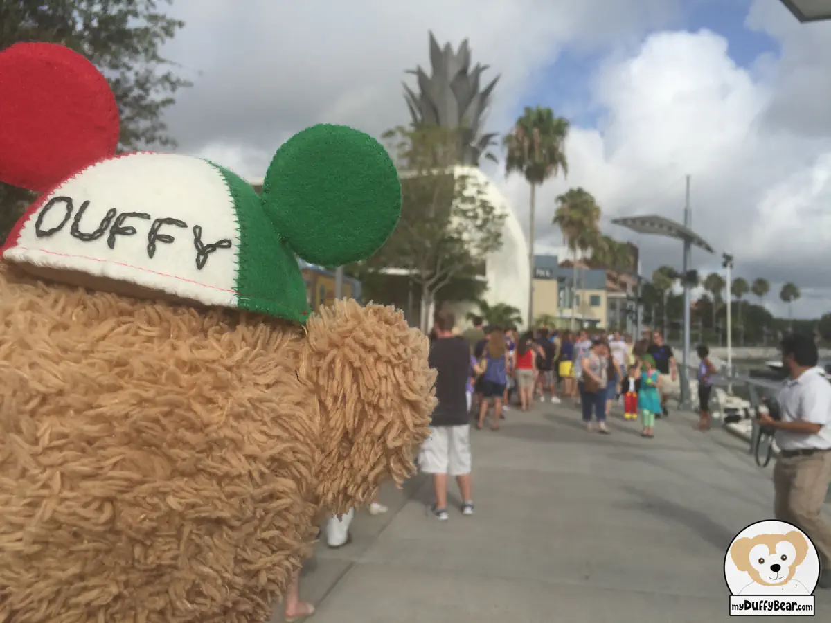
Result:
M241 174L262 175L265 156L325 120L379 135L409 120L401 81L427 66L427 32L501 74L491 125L511 110L541 67L568 42L629 42L676 15L678 0L178 0L186 27L166 49L194 87L169 115L181 148L259 150Z

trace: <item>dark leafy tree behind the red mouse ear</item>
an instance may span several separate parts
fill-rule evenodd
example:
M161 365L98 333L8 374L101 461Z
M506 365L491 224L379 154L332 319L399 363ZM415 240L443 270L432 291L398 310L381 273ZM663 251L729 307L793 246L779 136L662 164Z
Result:
M37 41L80 52L104 72L116 95L120 149L174 146L163 113L189 82L176 75L161 49L184 22L168 17L159 5L159 0L3 0L0 50ZM0 238L32 199L27 190L0 183Z

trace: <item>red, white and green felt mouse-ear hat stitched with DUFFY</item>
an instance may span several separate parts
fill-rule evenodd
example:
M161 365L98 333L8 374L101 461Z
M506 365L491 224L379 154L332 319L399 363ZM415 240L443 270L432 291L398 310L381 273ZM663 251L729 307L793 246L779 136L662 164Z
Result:
M57 111L39 97L56 80L69 89ZM355 262L396 227L395 165L358 130L315 125L294 135L258 195L204 159L115 155L118 120L106 80L65 47L0 52L0 92L12 92L11 81L20 96L0 103L0 179L43 194L0 253L32 272L304 322L310 310L297 256L322 266ZM32 139L50 130L52 139ZM65 140L76 142L67 150ZM3 155L19 141L29 142L27 158Z

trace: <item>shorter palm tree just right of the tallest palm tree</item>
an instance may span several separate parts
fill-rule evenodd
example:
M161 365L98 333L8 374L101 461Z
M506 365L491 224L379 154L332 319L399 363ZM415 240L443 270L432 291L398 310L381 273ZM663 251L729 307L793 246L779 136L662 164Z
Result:
M583 188L568 189L557 198L557 212L552 222L563 232L563 238L572 254L572 317L569 322L574 328L577 313L577 272L578 252L587 253L597 247L600 238L600 206L593 195Z

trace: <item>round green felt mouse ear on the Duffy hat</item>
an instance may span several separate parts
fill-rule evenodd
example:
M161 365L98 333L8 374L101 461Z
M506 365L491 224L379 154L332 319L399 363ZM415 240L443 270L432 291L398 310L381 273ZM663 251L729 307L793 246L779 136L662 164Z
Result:
M301 258L327 267L369 258L396 228L401 182L383 145L345 125L314 125L268 166L263 210Z

